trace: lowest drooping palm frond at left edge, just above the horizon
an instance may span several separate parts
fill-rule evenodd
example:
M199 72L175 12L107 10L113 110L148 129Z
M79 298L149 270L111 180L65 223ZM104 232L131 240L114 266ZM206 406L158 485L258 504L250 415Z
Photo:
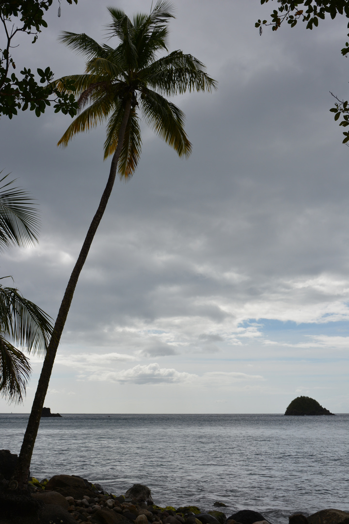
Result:
M0 335L0 395L22 402L30 372L27 357Z

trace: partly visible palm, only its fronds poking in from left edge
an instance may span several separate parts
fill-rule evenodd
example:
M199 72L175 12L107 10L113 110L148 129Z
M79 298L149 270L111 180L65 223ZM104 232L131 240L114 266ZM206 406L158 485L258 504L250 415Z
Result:
M7 177L0 179L0 251L35 244L39 223L27 192ZM49 319L17 289L0 285L0 395L9 401L22 401L31 372L28 358L12 342L43 354L52 335Z

